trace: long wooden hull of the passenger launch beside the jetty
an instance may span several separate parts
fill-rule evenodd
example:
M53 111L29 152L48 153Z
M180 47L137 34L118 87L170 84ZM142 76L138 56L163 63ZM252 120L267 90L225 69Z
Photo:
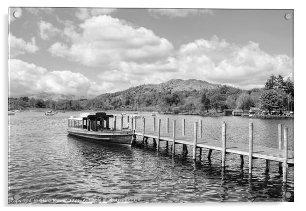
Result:
M85 131L85 130L74 130L69 128L68 133L70 135L87 139L94 140L95 142L109 143L109 144L124 144L131 145L133 131L113 131L113 132L99 132L99 131Z

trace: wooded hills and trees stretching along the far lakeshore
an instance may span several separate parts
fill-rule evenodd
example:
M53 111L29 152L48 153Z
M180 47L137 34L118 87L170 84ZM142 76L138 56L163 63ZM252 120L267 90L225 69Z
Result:
M43 100L28 97L9 98L9 109L49 108L50 110L118 110L160 112L222 112L224 109L249 111L259 107L272 110L293 111L294 85L290 77L271 75L264 88L241 90L220 85L214 89L174 91L173 88L157 88L141 85L115 93L102 94L96 98L66 100Z

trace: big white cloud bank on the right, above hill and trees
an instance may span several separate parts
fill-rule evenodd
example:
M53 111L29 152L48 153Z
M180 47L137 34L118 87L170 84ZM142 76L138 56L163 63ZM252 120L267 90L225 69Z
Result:
M262 87L271 74L288 77L293 71L292 59L287 55L269 55L257 43L240 46L217 36L182 45L177 59L182 78L188 76L247 89Z

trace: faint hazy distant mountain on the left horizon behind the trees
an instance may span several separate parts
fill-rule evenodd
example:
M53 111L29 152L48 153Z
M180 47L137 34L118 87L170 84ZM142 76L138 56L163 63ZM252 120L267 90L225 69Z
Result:
M94 98L96 95L88 95L88 96L75 96L73 94L54 94L54 93L47 93L47 92L42 92L39 94L33 94L29 95L29 98L41 98L43 100L60 100L60 99L67 99L67 100L78 100L78 99L85 99L85 98Z

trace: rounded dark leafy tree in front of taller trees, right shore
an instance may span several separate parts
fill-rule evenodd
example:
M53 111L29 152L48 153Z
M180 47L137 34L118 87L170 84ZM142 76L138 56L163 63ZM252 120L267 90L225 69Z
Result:
M282 102L282 97L274 90L267 90L260 96L261 106L268 110L269 114L272 109L279 109Z

